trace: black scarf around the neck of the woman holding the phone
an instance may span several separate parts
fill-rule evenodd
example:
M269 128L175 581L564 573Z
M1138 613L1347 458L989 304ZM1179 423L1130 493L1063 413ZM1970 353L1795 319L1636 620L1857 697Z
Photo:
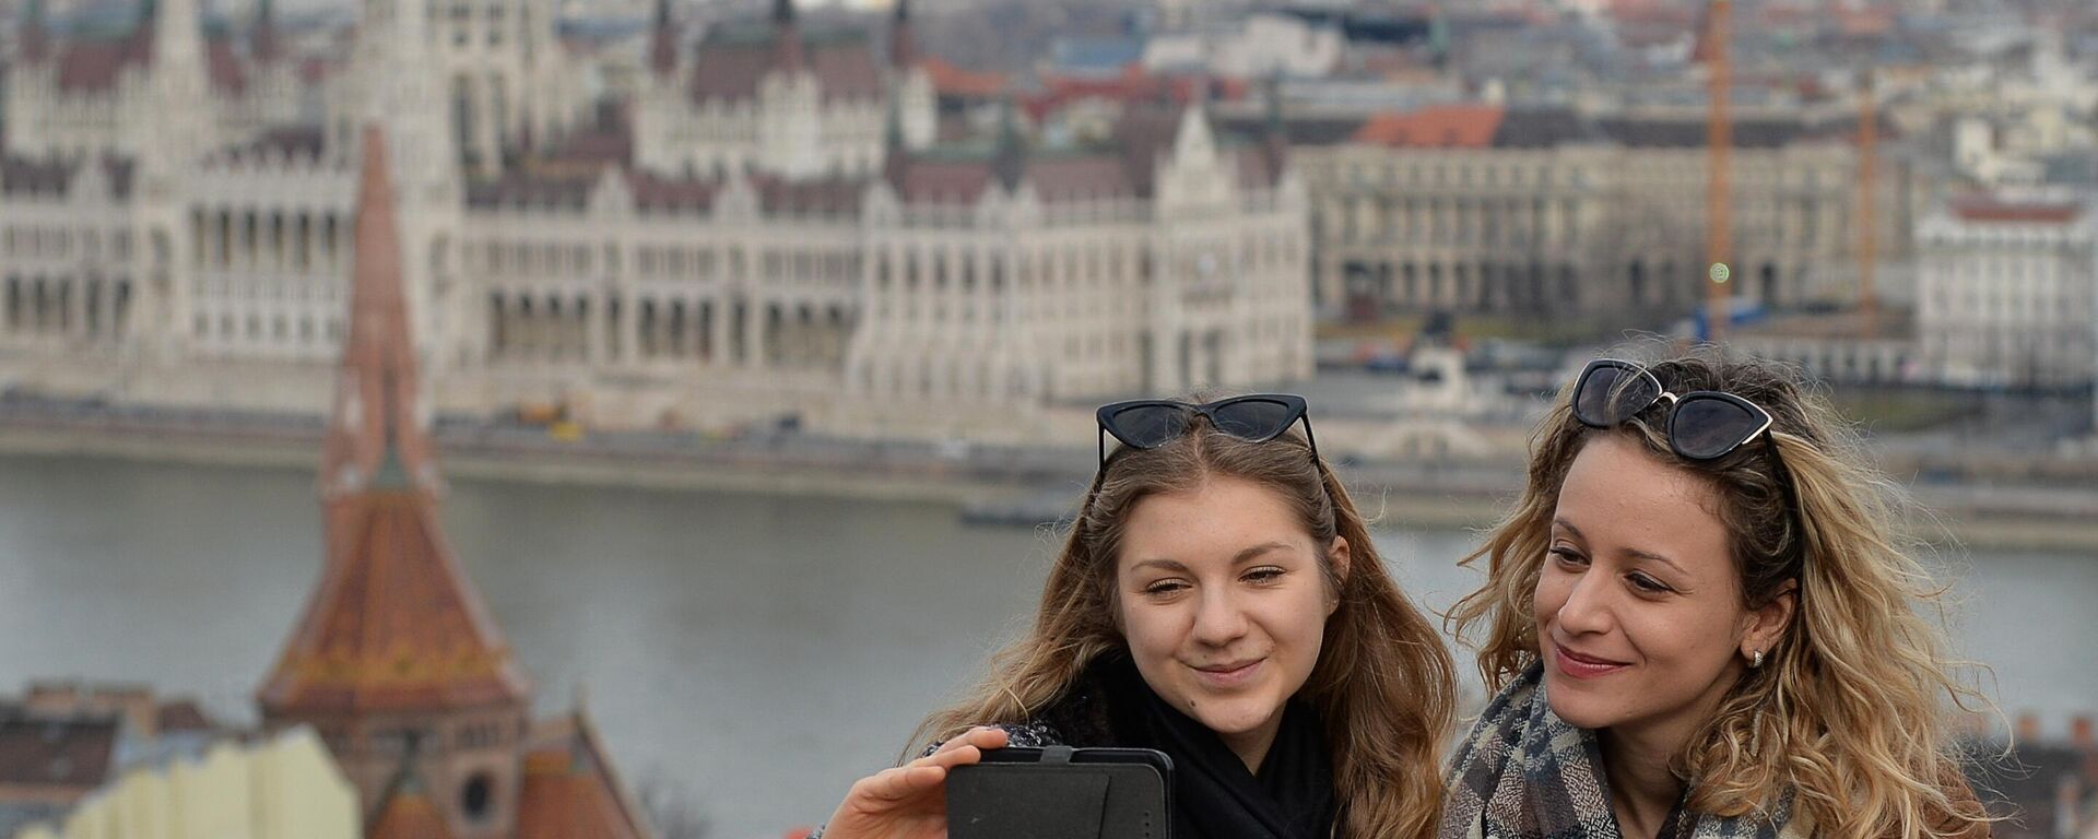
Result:
M1072 747L1158 749L1173 757L1175 839L1328 839L1336 816L1332 761L1318 711L1290 698L1282 730L1246 763L1143 684L1125 654L1095 661L1045 715Z

